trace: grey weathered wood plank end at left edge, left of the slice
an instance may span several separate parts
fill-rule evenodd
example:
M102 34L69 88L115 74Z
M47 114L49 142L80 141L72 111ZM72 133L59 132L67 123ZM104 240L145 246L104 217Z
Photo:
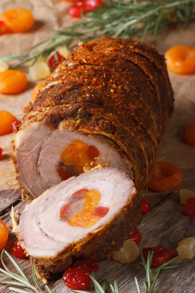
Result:
M20 189L0 190L0 213L10 208L21 197Z

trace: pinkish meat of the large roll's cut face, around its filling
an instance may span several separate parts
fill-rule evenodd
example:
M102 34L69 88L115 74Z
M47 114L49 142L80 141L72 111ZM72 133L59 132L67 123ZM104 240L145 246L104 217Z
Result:
M35 122L21 129L15 137L19 181L34 198L61 182L57 171L60 155L74 140L96 146L100 161L109 167L130 172L119 152L98 137L63 128L52 132L49 126Z

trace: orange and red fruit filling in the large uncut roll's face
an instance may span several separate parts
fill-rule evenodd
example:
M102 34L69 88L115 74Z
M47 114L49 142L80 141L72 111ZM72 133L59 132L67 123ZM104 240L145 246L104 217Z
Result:
M58 166L58 173L62 180L83 173L84 167L96 167L96 158L99 151L95 146L88 146L80 140L74 140L61 152L61 163Z

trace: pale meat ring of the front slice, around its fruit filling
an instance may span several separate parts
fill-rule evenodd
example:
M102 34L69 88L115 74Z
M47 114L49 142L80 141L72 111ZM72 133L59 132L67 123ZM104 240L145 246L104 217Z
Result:
M59 220L59 210L70 202L74 192L88 188L100 192L99 206L108 213L90 228L72 227ZM47 190L26 207L20 218L21 246L32 256L55 257L70 243L75 243L109 222L135 193L133 181L114 167L89 171Z

